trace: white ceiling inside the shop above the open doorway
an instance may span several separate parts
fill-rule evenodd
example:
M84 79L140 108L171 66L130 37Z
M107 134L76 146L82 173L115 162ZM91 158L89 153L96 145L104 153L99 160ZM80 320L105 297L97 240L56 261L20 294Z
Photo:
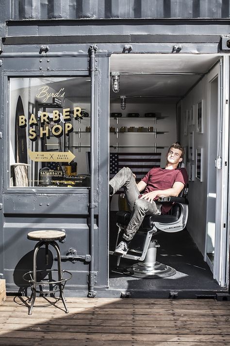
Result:
M113 100L132 97L132 102L176 103L218 61L219 55L111 55L110 72L120 73L120 91ZM134 97L136 96L136 98Z

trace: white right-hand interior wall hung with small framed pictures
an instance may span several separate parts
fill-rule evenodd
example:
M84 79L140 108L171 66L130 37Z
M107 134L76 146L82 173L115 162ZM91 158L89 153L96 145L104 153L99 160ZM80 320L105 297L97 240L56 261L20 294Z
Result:
M203 148L203 181L195 178L189 182L189 217L187 229L197 244L197 247L204 255L206 238L206 207L207 207L207 174L208 174L208 153L209 153L209 82L218 73L216 66L210 73L197 84L197 86L181 101L181 144L189 144L189 132L194 131L194 160L187 161L194 164L196 172L196 149ZM186 110L191 109L197 102L204 100L204 131L197 132L197 121L195 125L188 125L188 135L184 135L184 121ZM214 163L213 163L214 164Z

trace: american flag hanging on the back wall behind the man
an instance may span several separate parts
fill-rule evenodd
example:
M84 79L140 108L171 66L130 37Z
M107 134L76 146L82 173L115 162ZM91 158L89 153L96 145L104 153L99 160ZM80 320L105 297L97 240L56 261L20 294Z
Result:
M110 178L122 167L129 167L137 179L153 167L160 167L161 153L110 153Z

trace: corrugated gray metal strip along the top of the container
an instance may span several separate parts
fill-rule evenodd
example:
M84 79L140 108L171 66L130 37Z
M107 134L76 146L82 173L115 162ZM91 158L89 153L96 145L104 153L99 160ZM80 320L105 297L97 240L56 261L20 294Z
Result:
M229 18L230 0L12 0L11 19Z

